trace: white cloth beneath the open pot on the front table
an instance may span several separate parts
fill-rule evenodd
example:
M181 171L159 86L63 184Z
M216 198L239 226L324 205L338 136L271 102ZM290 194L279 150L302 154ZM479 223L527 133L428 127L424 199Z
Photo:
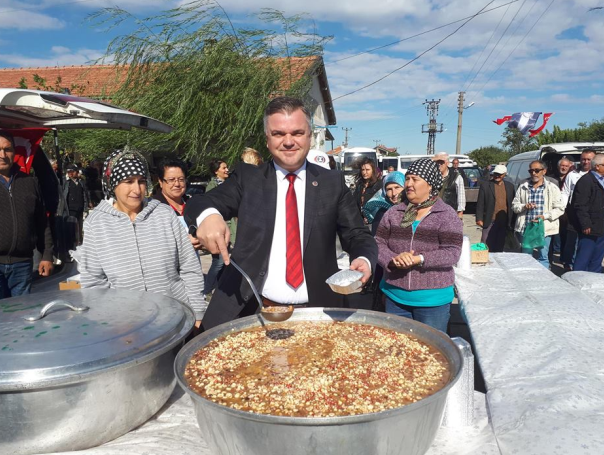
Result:
M475 392L474 404L474 425L455 429L441 428L427 455L499 455L488 423L484 394ZM190 397L179 387L174 390L163 409L139 428L102 446L61 452L60 455L80 454L215 455L208 449L197 426Z

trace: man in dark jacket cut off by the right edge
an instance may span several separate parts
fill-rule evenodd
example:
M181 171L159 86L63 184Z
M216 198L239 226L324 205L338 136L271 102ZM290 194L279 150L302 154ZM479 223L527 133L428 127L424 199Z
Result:
M569 220L579 236L573 270L602 271L604 259L604 154L591 160L591 171L575 185Z

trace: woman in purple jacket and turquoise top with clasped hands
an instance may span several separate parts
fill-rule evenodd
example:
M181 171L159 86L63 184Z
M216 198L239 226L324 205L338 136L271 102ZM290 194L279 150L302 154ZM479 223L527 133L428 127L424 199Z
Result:
M447 331L453 301L453 265L461 255L463 223L439 197L442 176L430 159L405 175L407 201L386 212L376 233L386 312Z

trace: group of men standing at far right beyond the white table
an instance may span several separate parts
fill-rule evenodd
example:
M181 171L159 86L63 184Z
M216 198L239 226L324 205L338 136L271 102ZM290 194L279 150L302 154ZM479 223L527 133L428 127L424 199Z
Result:
M480 185L476 224L492 252L522 251L550 268L559 256L565 271L602 271L604 259L604 154L585 149L578 169L563 156L548 176L542 160L514 189L507 168L495 166ZM510 238L513 233L514 238Z

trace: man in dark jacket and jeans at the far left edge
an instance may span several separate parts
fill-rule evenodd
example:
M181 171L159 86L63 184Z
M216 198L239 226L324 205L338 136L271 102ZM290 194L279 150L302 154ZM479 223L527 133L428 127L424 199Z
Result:
M42 260L41 276L52 271L53 244L44 203L35 178L15 165L15 141L0 131L0 299L28 294L33 249Z

